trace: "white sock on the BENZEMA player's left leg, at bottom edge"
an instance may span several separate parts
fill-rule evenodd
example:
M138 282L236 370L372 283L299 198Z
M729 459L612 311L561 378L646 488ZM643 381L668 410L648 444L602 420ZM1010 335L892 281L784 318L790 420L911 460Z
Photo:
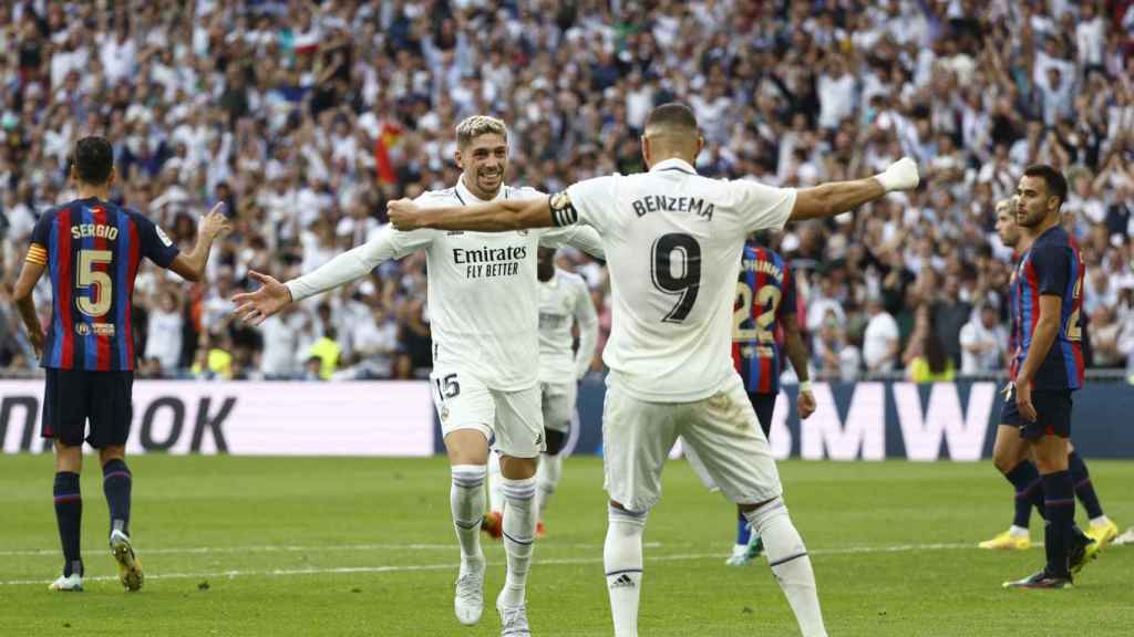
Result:
M615 637L637 637L638 597L642 593L642 533L645 511L636 513L611 507L602 566L607 571L610 615Z

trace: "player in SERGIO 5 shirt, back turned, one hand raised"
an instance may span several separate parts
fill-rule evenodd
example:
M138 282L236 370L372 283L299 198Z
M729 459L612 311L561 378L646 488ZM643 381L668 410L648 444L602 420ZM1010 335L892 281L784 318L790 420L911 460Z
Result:
M202 220L193 252L181 254L153 221L110 201L117 171L113 150L103 137L75 144L70 177L78 198L40 216L14 295L46 371L43 438L56 441L56 523L64 574L51 589L83 589L79 473L86 441L99 450L119 580L127 591L137 591L144 576L129 535L134 476L126 465L136 363L134 279L145 257L186 281L200 281L213 240L229 223L220 212L223 204L217 204ZM46 334L32 299L44 272L52 289Z

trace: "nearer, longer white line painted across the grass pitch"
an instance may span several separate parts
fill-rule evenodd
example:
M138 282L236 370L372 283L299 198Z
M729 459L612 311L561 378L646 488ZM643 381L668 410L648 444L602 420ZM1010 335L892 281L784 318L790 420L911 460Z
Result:
M818 549L809 551L813 555L850 555L856 553L900 553L911 551L948 551L957 549L975 549L972 543L966 544L900 544L895 546L847 546L843 549ZM676 562L722 558L722 553L678 553L672 555L646 555L648 562ZM602 558L564 558L540 560L538 566L565 566L565 564L600 564ZM374 574L374 572L411 572L428 570L451 570L457 564L407 564L407 566L381 566L381 567L337 567L337 568L299 568L299 569L266 569L266 570L223 570L211 572L166 572L147 575L146 579L196 579L196 578L236 578L236 577L290 577L297 575L350 575L350 574ZM85 577L84 581L115 581L117 576ZM44 585L51 584L49 579L10 579L0 580L0 586L22 585Z

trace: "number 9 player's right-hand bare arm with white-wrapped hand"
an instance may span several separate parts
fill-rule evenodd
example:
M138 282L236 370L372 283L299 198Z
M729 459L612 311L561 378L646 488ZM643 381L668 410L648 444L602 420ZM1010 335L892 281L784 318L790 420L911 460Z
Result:
M854 181L832 181L803 188L795 198L789 221L824 219L854 210L864 203L881 198L892 190L917 187L917 164L909 158L891 163L885 172Z

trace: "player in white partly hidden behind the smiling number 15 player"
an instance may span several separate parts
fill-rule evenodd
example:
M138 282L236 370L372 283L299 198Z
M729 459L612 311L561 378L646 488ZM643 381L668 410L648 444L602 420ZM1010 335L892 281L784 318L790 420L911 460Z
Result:
M540 396L543 405L543 433L547 450L535 474L536 537L543 537L543 511L562 477L560 453L570 435L575 417L578 382L586 374L599 345L599 316L591 300L591 289L582 277L556 267L556 249L540 248L536 275L540 279ZM573 325L578 325L575 350ZM489 515L483 529L494 538L501 535L503 490L500 487L497 455L489 460Z

